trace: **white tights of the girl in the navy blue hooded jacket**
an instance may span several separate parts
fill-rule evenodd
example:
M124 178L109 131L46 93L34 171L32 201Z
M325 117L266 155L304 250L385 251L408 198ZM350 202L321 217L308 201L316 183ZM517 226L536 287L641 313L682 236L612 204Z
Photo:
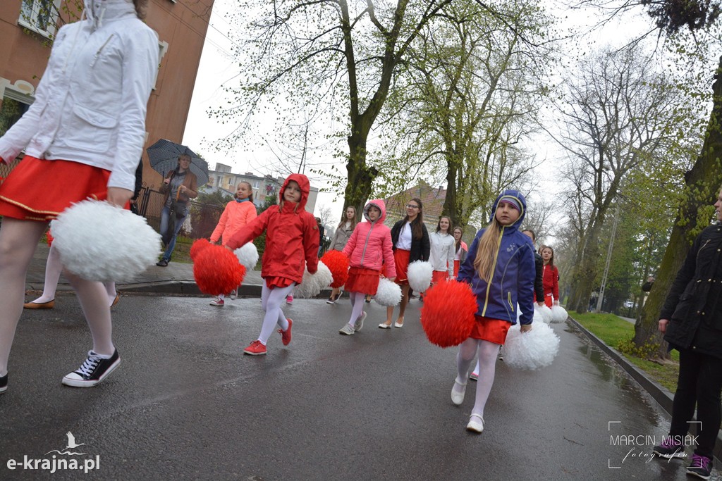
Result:
M499 353L499 345L490 343L487 340L469 339L461 343L456 355L456 368L458 376L456 382L458 384L466 384L469 381L469 367L474 356L479 353L479 380L477 381L477 398L474 402L474 408L471 414L478 414L484 417L484 406L489 399L489 393L494 384L494 374L496 371L497 353Z

